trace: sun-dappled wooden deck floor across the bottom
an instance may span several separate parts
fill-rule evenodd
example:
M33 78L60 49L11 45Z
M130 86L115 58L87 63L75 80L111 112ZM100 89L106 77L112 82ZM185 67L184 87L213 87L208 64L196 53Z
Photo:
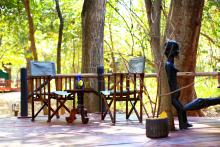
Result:
M145 136L144 123L126 121L120 115L115 126L108 119L100 121L99 114L89 114L88 124L81 124L80 119L66 124L64 117L51 123L46 117L37 117L35 122L2 117L0 146L220 146L219 117L189 117L192 128L170 132L167 138L150 139Z

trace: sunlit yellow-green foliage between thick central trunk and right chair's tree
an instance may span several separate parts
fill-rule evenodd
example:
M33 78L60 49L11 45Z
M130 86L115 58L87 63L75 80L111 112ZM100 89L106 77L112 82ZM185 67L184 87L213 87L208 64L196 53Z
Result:
M122 72L127 71L124 63L134 56L146 56L152 60L147 16L142 1L110 0L106 5L105 16L105 69L112 71L113 49L118 69ZM152 67L149 69L152 70Z

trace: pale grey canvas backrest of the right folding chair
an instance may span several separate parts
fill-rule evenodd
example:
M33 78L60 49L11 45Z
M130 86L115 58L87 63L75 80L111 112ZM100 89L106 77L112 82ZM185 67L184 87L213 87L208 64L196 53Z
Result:
M129 73L144 73L145 57L132 58L128 62Z

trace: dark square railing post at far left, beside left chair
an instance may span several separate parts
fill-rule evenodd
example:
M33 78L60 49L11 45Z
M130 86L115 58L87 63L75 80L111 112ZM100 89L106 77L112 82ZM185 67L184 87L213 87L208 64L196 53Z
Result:
M21 68L21 118L28 116L28 83L27 83L27 69Z

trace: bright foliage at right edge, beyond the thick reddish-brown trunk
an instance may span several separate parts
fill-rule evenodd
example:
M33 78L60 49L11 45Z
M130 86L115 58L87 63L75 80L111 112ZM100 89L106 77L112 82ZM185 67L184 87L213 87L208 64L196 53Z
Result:
M220 71L220 3L206 1L198 48L198 71Z

